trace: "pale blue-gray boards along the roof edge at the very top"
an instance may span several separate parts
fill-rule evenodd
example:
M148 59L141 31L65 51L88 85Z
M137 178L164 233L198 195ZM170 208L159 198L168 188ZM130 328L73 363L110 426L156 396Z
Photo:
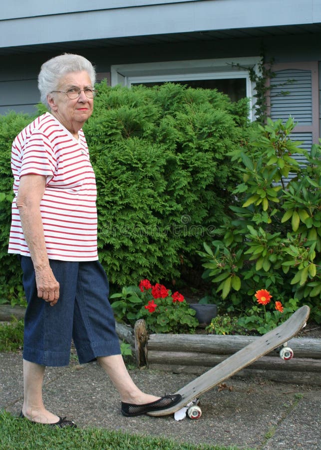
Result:
M321 0L46 3L4 2L0 47L321 22Z

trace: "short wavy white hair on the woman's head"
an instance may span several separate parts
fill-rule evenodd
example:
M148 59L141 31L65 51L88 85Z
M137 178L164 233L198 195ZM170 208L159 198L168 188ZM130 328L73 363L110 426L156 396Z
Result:
M64 53L55 56L41 65L38 75L38 89L40 99L47 107L47 95L53 90L58 90L60 79L70 72L79 72L85 70L93 86L96 81L96 72L88 59L79 54Z

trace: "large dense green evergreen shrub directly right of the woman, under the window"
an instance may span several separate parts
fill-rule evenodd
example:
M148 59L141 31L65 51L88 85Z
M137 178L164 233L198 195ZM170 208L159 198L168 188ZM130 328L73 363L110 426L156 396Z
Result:
M247 103L165 84L100 85L85 134L98 186L99 255L118 285L179 278L222 223L239 180ZM238 120L237 120L238 118Z

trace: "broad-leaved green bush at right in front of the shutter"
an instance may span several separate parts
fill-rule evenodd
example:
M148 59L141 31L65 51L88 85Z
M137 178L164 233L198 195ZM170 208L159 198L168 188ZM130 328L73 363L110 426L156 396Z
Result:
M205 243L199 254L222 309L251 316L251 298L266 288L285 311L308 304L320 323L321 146L313 145L310 154L300 149L300 142L290 139L293 128L291 118L285 124L269 120L231 153L243 173L234 191L239 205L232 205L229 219L213 231L219 240ZM304 154L305 165L294 153ZM295 176L286 184L291 172Z

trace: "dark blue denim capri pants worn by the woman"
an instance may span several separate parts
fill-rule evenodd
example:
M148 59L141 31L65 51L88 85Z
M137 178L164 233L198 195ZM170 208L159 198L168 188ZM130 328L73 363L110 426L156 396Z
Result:
M60 284L54 306L37 296L29 256L19 256L27 300L23 358L46 366L68 365L71 339L80 363L97 356L120 354L113 310L108 301L107 275L98 260L49 263Z

